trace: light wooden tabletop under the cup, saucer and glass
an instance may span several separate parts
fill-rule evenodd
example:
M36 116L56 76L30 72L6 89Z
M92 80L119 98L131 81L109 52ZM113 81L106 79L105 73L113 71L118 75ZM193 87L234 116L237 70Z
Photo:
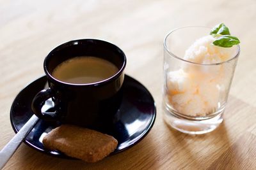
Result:
M0 1L0 148L15 135L10 107L18 92L44 74L52 48L81 38L105 39L124 50L125 72L150 90L154 127L138 145L87 164L19 147L4 169L255 169L256 2L244 1ZM241 40L224 122L191 136L162 119L163 38L175 27L224 22Z

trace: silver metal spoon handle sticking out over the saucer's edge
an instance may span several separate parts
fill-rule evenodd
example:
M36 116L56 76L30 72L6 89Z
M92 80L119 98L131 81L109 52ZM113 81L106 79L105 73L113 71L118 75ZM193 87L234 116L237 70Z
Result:
M4 167L6 162L12 157L13 153L20 146L20 143L24 138L29 134L31 129L38 122L39 118L36 115L33 115L26 124L20 129L17 134L4 146L4 148L0 151L0 169Z

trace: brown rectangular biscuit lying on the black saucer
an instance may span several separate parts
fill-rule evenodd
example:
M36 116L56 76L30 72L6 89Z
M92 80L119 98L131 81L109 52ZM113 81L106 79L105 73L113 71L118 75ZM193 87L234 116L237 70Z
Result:
M61 125L52 129L44 137L43 143L50 150L60 150L86 162L103 159L117 146L117 141L112 136L75 125Z

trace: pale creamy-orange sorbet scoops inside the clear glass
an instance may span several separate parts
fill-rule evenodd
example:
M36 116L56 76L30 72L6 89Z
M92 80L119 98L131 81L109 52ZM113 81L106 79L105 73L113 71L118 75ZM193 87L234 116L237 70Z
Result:
M205 116L218 110L221 93L225 91L225 75L230 67L218 64L231 59L235 48L215 46L211 35L197 39L189 46L184 59L196 64L184 64L168 73L167 96L173 109L189 116ZM216 64L216 65L202 65Z

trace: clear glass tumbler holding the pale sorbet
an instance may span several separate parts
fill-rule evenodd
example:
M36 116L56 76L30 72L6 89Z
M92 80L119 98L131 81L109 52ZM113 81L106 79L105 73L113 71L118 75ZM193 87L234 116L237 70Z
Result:
M231 57L214 64L212 60L209 64L186 60L189 46L210 31L207 27L182 27L164 38L164 120L188 134L211 132L223 121L240 52L239 45L218 47Z

